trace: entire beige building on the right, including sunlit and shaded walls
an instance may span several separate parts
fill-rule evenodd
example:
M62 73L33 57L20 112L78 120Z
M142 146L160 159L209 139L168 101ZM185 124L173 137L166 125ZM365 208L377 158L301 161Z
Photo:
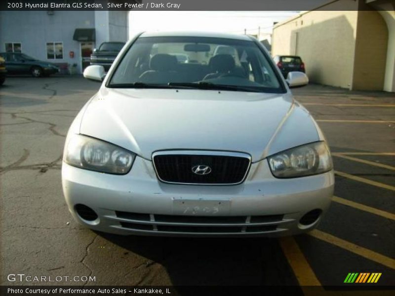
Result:
M383 11L358 11L361 5L368 5L365 1L333 1L277 24L272 55L300 55L315 83L394 91L393 11L385 15ZM373 8L373 2L384 5L388 1L368 0L368 8Z

